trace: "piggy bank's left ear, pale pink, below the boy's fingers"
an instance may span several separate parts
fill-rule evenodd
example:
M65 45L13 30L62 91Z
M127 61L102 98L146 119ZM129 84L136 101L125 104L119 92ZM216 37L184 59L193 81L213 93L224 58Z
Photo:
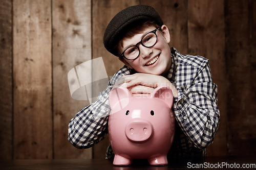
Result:
M125 87L115 87L110 91L110 108L115 110L121 110L128 105L133 94Z

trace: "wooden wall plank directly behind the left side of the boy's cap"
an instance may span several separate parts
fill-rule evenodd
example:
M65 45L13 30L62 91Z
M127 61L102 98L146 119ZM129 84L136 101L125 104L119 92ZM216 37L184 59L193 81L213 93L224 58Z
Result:
M110 20L122 9L138 5L138 1L92 1L93 58L102 57L108 76L113 76L124 64L109 53L103 44L103 35ZM93 147L93 158L104 158L109 145L108 136Z

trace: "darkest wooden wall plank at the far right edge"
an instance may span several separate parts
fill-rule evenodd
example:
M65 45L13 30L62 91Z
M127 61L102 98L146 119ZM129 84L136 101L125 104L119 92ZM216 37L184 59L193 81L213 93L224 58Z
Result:
M255 10L255 1L225 1L229 155L256 152Z

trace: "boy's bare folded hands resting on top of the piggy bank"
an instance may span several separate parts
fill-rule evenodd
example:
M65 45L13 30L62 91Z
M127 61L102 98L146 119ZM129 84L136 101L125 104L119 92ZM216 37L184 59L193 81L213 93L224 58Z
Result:
M136 73L123 76L115 86L124 86L132 93L151 93L155 88L166 85L173 91L174 97L178 96L178 90L166 78L158 75Z

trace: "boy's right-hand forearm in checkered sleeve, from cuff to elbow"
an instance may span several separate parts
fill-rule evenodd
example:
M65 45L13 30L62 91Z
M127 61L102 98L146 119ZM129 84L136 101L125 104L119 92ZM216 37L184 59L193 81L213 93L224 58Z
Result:
M203 107L189 102L183 95L173 107L177 122L191 143L200 149L208 147L213 142L219 125L220 113L217 105Z

